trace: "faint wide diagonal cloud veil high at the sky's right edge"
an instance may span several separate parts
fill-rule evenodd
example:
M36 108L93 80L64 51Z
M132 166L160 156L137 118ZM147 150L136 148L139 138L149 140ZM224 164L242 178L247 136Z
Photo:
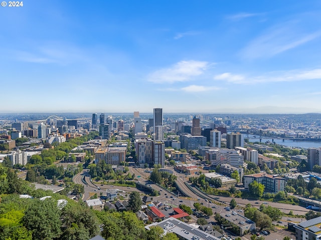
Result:
M321 36L321 31L302 32L296 23L273 26L241 50L244 58L272 57Z

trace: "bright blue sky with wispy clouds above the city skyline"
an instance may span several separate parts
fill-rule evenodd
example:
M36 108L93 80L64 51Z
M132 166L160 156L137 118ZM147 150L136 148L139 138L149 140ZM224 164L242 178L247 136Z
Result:
M319 0L23 3L0 112L321 112Z

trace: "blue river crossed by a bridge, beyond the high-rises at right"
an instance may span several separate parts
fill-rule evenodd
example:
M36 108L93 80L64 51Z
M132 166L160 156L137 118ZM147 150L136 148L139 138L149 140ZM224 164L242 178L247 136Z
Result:
M249 136L249 141L255 142L260 141L259 135L252 135L252 134L244 134L244 138L247 138ZM256 137L254 137L256 136ZM272 142L272 137L270 136L262 136L261 137L262 144L264 144L266 141ZM273 138L275 143L279 145L284 146L297 146L297 147L303 147L303 148L309 148L309 147L321 147L321 141L311 141L311 140L292 140L292 139L280 139L280 138Z

